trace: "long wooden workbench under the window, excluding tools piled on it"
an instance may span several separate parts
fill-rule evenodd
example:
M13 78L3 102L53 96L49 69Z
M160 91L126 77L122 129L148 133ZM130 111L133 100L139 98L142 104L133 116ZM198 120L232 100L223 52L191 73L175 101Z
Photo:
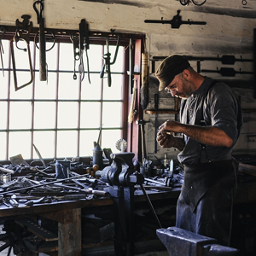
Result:
M168 191L147 190L150 201L177 200L180 188ZM146 201L143 192L137 189L135 192L135 202ZM236 193L235 203L244 203L256 201L256 182L239 183ZM166 201L168 203L168 201ZM57 201L44 203L27 207L19 204L19 207L0 206L0 218L33 218L40 216L56 221L58 223L58 255L75 256L81 255L82 252L82 235L81 235L81 210L88 207L112 206L111 197L102 197L92 200L79 201ZM38 252L22 255L38 255Z

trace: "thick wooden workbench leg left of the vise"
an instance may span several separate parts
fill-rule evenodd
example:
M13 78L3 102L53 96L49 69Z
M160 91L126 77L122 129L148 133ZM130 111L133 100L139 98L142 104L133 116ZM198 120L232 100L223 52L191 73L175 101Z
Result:
M58 224L58 255L80 256L82 254L81 209L73 209L73 221Z

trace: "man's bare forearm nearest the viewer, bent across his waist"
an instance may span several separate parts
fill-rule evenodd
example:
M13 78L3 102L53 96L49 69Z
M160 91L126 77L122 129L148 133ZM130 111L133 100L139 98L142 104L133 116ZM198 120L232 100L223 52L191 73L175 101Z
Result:
M166 121L159 127L162 134L166 132L178 132L191 137L199 143L216 147L231 147L233 140L218 127L183 125L176 121Z

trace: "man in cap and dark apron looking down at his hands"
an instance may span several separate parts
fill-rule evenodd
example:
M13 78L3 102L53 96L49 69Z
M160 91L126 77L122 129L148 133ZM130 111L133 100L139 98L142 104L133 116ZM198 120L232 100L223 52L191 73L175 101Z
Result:
M184 182L176 225L229 246L236 192L231 152L241 131L240 104L228 85L196 73L181 55L167 57L155 75L159 90L182 99L180 122L167 120L156 138L160 147L180 150Z

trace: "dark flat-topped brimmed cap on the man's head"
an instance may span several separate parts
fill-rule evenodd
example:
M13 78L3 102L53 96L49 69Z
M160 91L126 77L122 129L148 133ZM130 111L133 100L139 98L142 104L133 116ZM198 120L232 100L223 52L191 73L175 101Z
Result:
M174 77L188 67L189 61L181 55L171 55L162 61L155 72L156 78L160 81L159 91L171 84Z

